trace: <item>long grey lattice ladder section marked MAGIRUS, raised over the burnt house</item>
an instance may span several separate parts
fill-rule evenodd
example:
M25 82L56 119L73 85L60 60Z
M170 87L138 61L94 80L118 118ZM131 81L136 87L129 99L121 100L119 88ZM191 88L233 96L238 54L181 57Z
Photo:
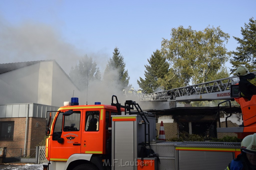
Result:
M256 72L252 72L256 74ZM238 76L227 77L196 85L174 88L151 94L136 96L141 101L200 101L200 100L228 100L230 85L239 82Z

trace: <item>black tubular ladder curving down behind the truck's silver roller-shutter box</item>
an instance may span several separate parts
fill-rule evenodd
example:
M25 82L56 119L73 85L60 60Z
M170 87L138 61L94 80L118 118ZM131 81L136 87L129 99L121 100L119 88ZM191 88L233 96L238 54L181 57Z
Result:
M134 108L137 110L137 112L131 112L131 110L134 110ZM145 115L145 113L142 111L141 107L136 103L135 101L132 100L126 100L125 101L125 115L126 114L140 114L142 118L141 124L144 124L144 133L145 133L145 142L144 143L139 143L139 145L144 145L144 146L149 146L150 145L150 123Z

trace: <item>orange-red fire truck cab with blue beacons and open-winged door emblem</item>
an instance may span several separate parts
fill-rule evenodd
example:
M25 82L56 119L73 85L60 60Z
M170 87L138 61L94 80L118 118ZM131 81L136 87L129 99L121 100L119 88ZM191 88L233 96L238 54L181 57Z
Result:
M51 127L53 111L47 112L49 163L44 169L106 169L104 160L111 159L111 115L120 115L124 108L118 102L113 104L113 97L114 106L99 102L78 105L78 98L75 100L58 109Z

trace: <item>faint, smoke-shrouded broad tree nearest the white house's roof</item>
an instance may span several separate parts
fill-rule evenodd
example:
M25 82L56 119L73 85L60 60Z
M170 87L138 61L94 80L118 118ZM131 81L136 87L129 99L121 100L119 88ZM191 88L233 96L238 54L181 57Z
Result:
M80 90L86 89L90 81L101 80L101 73L97 63L85 55L69 72L70 79ZM87 82L88 81L88 82Z

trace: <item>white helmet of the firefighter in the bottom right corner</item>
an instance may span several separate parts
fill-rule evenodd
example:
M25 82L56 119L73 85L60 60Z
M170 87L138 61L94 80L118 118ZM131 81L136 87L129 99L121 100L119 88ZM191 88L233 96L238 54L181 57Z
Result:
M243 138L241 150L246 153L256 154L256 133Z

